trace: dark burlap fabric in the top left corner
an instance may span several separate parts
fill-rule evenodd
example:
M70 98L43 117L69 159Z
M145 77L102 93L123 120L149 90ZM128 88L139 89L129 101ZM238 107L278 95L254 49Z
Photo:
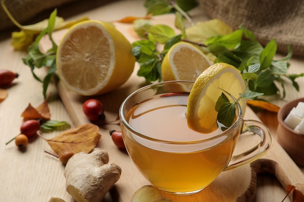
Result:
M4 3L11 15L22 24L44 10L56 8L69 1L73 0L5 0ZM0 6L0 31L14 26Z

